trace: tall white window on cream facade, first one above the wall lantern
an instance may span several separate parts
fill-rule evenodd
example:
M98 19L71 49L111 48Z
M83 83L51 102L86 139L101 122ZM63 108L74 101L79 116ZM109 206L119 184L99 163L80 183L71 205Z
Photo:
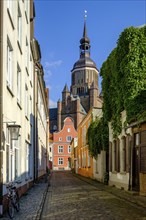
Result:
M13 68L13 48L10 40L7 40L7 86L12 91L12 68Z

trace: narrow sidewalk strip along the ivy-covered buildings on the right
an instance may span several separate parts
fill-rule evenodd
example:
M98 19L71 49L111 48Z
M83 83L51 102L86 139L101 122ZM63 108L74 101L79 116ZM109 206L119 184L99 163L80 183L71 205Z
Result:
M108 185L104 185L103 183L98 182L97 180L93 180L87 177L83 177L81 175L78 174L73 174L74 176L76 176L77 178L91 184L94 185L95 187L100 188L101 190L105 190L125 201L129 201L131 203L136 204L137 206L140 206L142 208L146 208L146 197L145 196L140 196L138 194L138 192L134 192L134 191L125 191L122 189L118 189L116 187L112 187L112 186L108 186Z

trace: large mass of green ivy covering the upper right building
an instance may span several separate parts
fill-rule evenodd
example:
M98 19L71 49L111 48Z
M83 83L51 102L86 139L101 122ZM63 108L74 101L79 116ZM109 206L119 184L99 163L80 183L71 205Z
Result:
M121 33L100 74L103 118L112 121L116 137L122 129L120 118L124 109L128 123L146 117L146 26L130 27Z

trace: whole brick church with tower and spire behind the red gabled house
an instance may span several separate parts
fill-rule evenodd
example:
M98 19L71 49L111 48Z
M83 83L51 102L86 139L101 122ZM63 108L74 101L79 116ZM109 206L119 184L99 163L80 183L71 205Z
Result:
M77 129L79 123L87 115L91 107L101 108L99 96L99 71L90 57L90 39L87 36L86 20L84 20L83 37L80 39L80 57L71 70L71 87L65 84L62 100L58 100L57 108L50 109L50 132L60 131L66 117L71 117Z

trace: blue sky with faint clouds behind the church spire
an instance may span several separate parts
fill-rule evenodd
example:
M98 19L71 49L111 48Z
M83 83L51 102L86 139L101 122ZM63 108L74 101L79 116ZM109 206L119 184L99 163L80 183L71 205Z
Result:
M41 48L41 64L49 108L62 99L65 84L70 89L71 70L79 59L84 15L91 44L91 59L100 68L116 47L122 31L146 24L146 0L34 0L35 38ZM101 91L99 75L99 89Z

